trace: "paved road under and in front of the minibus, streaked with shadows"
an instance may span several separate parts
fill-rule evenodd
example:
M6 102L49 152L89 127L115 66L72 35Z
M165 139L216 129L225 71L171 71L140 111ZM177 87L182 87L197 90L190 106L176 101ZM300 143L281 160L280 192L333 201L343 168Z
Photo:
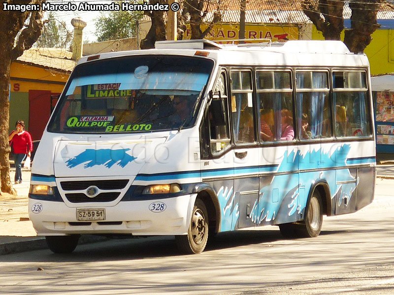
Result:
M172 237L0 256L0 294L393 294L393 179L374 202L327 217L317 238L284 239L276 227L218 235L200 255Z

